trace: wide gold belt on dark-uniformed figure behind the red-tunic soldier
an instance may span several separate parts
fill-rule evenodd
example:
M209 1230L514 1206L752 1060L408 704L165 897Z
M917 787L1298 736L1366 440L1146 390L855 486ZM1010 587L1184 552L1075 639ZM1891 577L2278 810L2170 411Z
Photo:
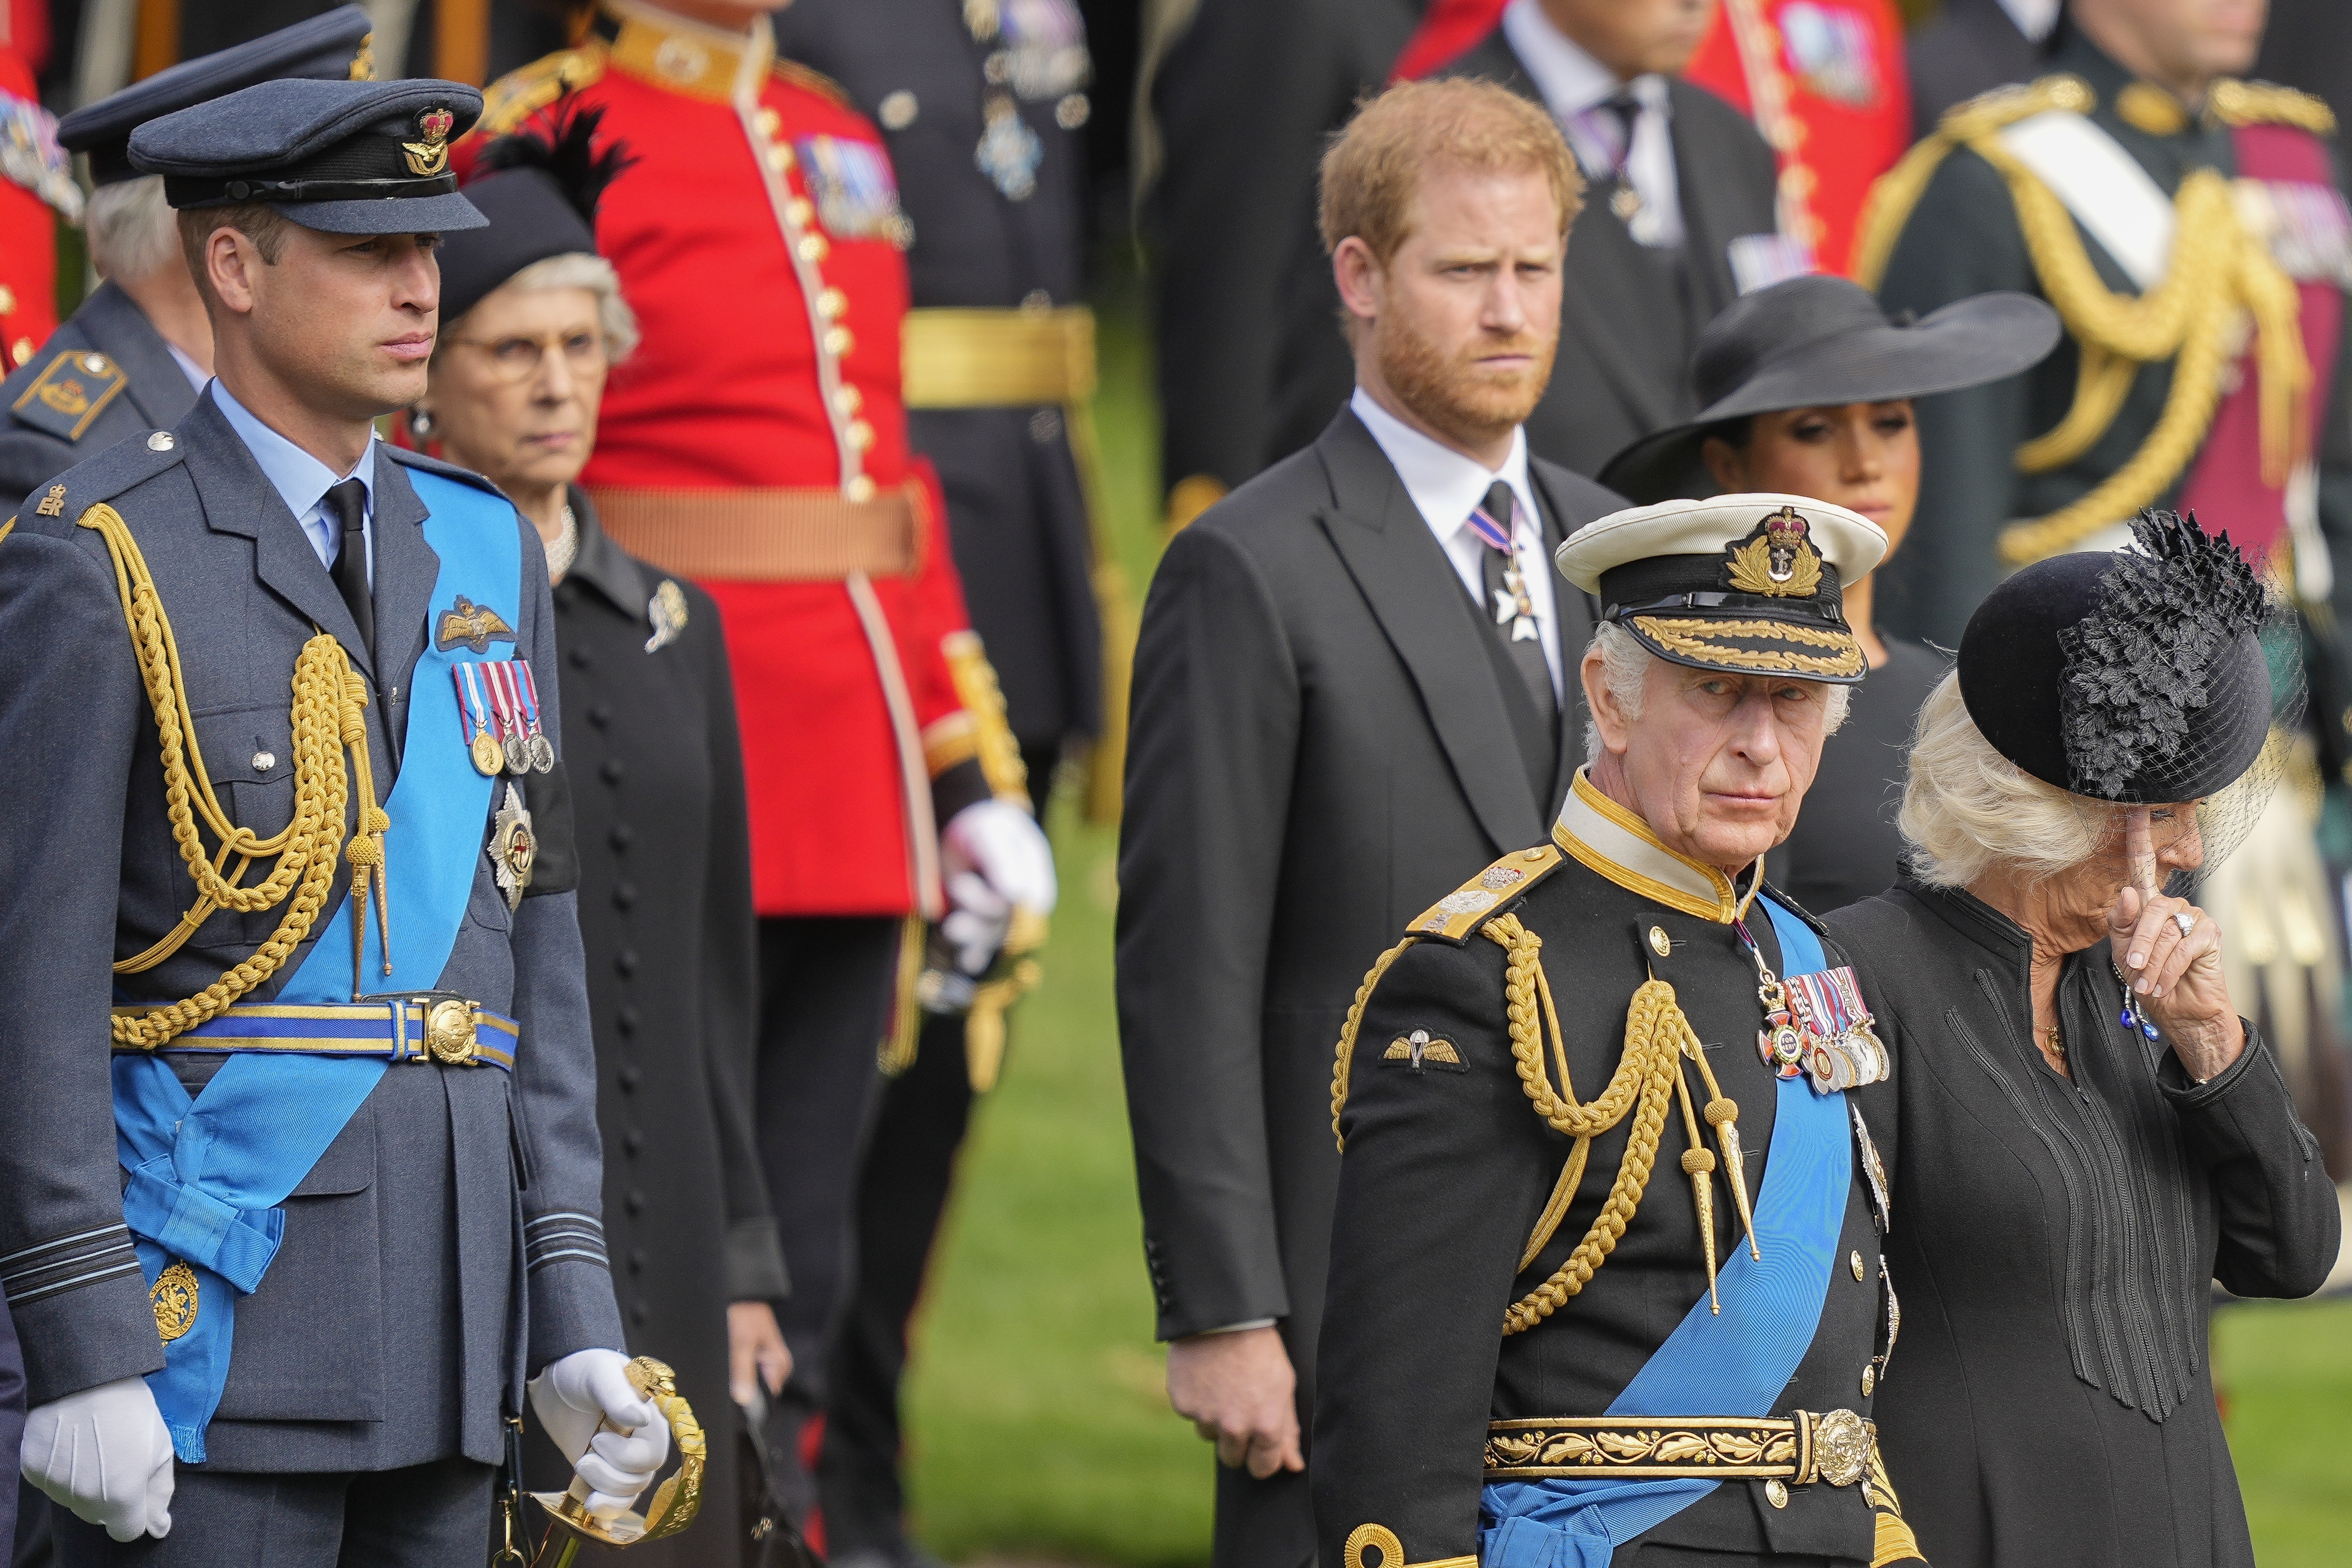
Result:
M1021 409L1094 397L1094 310L908 310L898 334L910 409Z

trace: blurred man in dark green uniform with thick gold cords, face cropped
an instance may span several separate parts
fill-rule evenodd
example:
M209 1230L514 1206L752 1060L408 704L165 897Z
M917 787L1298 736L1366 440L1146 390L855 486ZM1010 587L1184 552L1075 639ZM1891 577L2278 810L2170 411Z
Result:
M1889 308L2016 289L2049 299L2067 339L2032 371L1919 411L1938 482L1879 574L1877 616L1950 646L2006 571L2112 548L2143 505L2227 529L2303 607L2312 719L2277 736L2298 783L2199 900L2343 1178L2352 214L2328 108L2237 80L2263 9L2070 0L2053 75L1962 106L1889 176L1858 254Z

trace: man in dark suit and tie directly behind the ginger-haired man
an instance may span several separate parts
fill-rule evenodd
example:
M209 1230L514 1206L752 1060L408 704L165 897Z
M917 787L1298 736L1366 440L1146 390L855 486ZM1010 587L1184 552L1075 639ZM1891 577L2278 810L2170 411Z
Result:
M1715 0L1510 0L1428 73L1475 75L1543 103L1588 183L1569 235L1559 360L1529 447L1599 473L1625 442L1698 411L1691 348L1740 287L1804 270L1776 233L1773 153L1729 103L1679 73ZM1418 61L1416 61L1418 63ZM1272 451L1294 451L1348 400L1329 268L1284 317L1294 374Z

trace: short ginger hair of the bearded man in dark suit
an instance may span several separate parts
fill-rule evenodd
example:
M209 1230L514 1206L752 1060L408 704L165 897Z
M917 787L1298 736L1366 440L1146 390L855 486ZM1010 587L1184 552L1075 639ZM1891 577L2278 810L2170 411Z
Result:
M1411 235L1414 195L1432 165L1543 174L1562 235L1585 205L1585 176L1543 106L1475 78L1397 82L1364 99L1324 153L1317 212L1324 252L1357 235L1388 266Z

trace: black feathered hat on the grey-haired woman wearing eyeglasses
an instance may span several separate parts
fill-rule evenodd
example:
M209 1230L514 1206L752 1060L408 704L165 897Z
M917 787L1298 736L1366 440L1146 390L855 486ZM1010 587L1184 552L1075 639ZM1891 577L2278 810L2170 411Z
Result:
M532 132L499 136L466 181L485 228L442 240L442 320L482 303L485 294L548 256L595 254L595 205L604 186L635 162L621 143L595 150L602 108L562 113L555 136Z

